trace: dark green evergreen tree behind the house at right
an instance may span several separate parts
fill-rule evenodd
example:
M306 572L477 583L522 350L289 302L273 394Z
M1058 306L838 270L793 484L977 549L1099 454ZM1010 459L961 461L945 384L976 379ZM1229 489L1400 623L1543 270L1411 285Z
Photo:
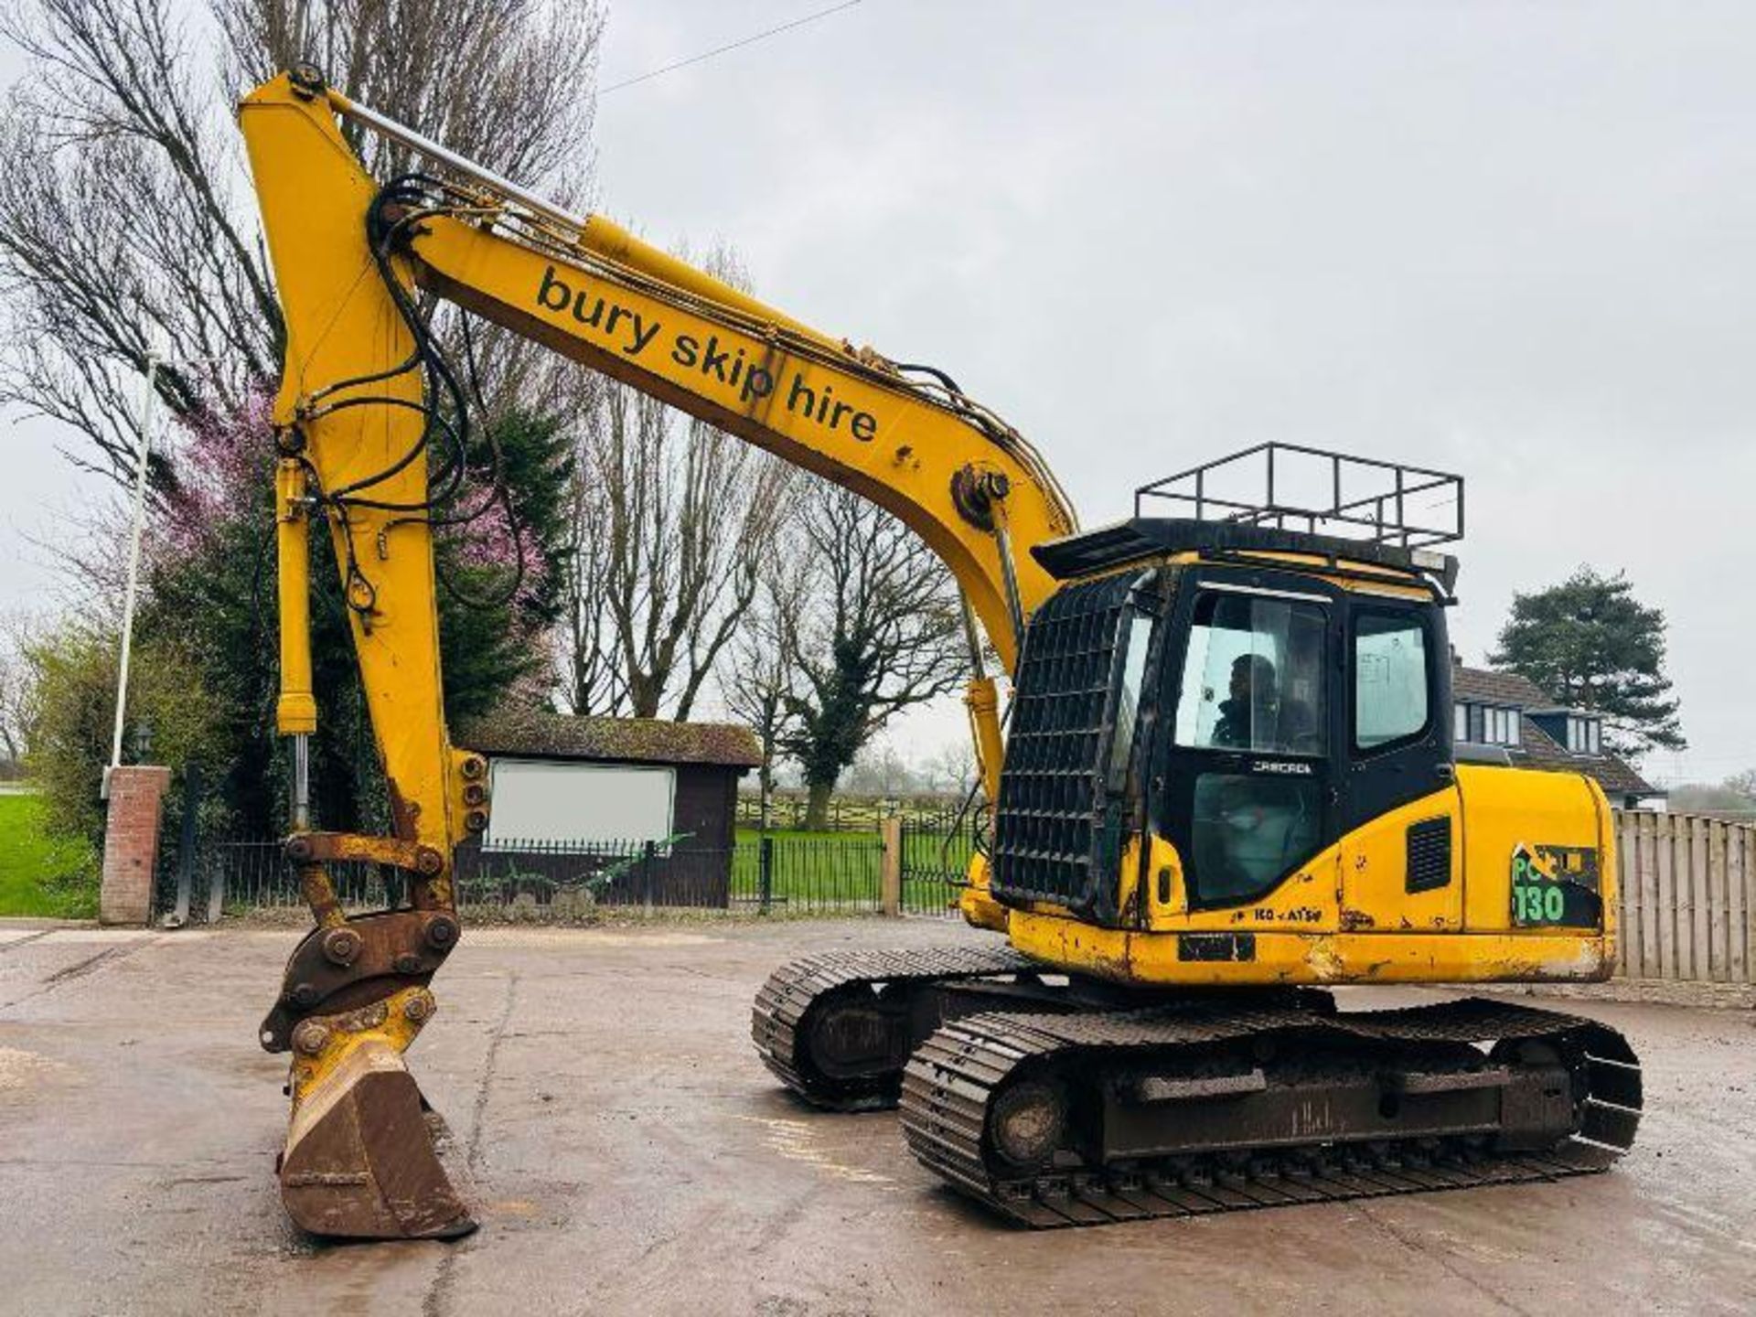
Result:
M1547 590L1512 595L1489 664L1529 678L1556 704L1603 715L1612 753L1688 746L1665 676L1665 613L1635 599L1624 572L1580 567Z

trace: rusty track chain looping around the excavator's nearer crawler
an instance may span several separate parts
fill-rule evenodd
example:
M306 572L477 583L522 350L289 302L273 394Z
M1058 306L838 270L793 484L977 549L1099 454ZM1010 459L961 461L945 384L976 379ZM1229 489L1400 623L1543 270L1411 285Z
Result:
M1212 1157L1194 1152L1126 1166L1057 1166L1033 1178L1004 1178L983 1159L990 1099L1020 1062L1076 1048L1103 1064L1105 1052L1150 1048L1162 1055L1164 1048L1263 1033L1410 1043L1552 1040L1586 1057L1584 1117L1573 1136L1544 1154L1493 1154L1463 1138L1326 1143L1241 1155L1236 1148ZM955 1189L1026 1226L1096 1226L1603 1171L1633 1143L1640 1066L1628 1041L1607 1026L1482 997L1347 1015L1199 1006L1103 1015L989 1011L943 1026L915 1050L901 1106L910 1150Z

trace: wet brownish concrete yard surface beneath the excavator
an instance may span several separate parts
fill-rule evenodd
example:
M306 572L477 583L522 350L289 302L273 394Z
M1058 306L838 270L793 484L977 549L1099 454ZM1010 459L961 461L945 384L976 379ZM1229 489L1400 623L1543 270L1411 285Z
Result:
M1608 1175L1031 1233L750 1047L778 962L982 936L950 920L465 931L409 1055L483 1227L316 1245L281 1215L284 1061L255 1043L295 936L0 927L0 1312L1756 1310L1752 1011L1554 1003L1645 1064Z

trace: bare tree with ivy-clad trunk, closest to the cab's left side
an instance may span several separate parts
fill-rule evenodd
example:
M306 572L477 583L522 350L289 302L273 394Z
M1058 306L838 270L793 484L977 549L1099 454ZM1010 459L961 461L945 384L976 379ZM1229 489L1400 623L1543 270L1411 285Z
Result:
M822 827L855 755L894 715L954 690L968 653L945 564L876 504L817 485L797 551L815 581L788 641L804 694L785 748L810 790L806 827Z

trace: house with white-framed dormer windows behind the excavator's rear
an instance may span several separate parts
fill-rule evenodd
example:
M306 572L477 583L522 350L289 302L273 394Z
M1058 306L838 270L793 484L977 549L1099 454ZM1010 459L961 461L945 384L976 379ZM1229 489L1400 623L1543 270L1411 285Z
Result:
M1517 673L1465 667L1452 655L1452 741L1459 759L1584 773L1617 810L1661 810L1665 792L1603 750L1603 716L1556 706Z

